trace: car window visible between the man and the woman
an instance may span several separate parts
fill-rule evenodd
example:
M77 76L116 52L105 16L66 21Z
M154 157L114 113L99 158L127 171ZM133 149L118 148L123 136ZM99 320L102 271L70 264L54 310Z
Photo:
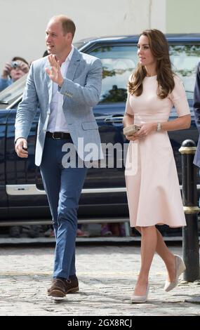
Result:
M91 55L102 61L100 103L126 102L128 78L138 62L137 46L101 46Z

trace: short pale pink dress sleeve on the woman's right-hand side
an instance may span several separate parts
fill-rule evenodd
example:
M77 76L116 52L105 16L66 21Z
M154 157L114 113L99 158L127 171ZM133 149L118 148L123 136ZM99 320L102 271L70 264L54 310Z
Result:
M178 117L182 117L186 114L190 114L189 104L187 102L187 96L182 80L179 77L175 76L174 82L175 86L173 88L173 91L169 95L169 98L175 106L175 110L178 113Z

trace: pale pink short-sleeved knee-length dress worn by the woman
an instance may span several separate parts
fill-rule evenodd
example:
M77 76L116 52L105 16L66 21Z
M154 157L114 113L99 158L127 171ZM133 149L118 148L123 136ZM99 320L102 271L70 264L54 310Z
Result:
M134 115L134 124L168 121L173 105L178 117L190 114L182 81L178 77L174 81L173 92L164 99L156 93L156 76L145 77L140 96L128 93L126 112ZM125 177L131 227L186 225L178 173L166 131L130 141Z

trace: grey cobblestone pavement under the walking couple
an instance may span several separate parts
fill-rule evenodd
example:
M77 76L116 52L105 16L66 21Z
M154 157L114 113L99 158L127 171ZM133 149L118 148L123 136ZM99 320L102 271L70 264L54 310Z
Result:
M182 254L180 246L171 246ZM4 246L0 248L0 315L200 315L200 281L164 291L166 270L154 256L149 298L130 303L140 268L140 247L86 245L76 248L80 291L62 303L51 301L53 246ZM199 303L198 303L199 302Z

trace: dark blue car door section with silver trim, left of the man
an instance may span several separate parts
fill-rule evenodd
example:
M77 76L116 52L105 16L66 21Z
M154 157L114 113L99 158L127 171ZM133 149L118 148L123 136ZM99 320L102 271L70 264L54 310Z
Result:
M20 158L15 153L16 109L10 110L6 128L6 192L8 194L9 218L38 218L50 216L44 190L36 188L40 178L39 168L34 164L36 130L39 110L34 117L28 136L29 157Z

